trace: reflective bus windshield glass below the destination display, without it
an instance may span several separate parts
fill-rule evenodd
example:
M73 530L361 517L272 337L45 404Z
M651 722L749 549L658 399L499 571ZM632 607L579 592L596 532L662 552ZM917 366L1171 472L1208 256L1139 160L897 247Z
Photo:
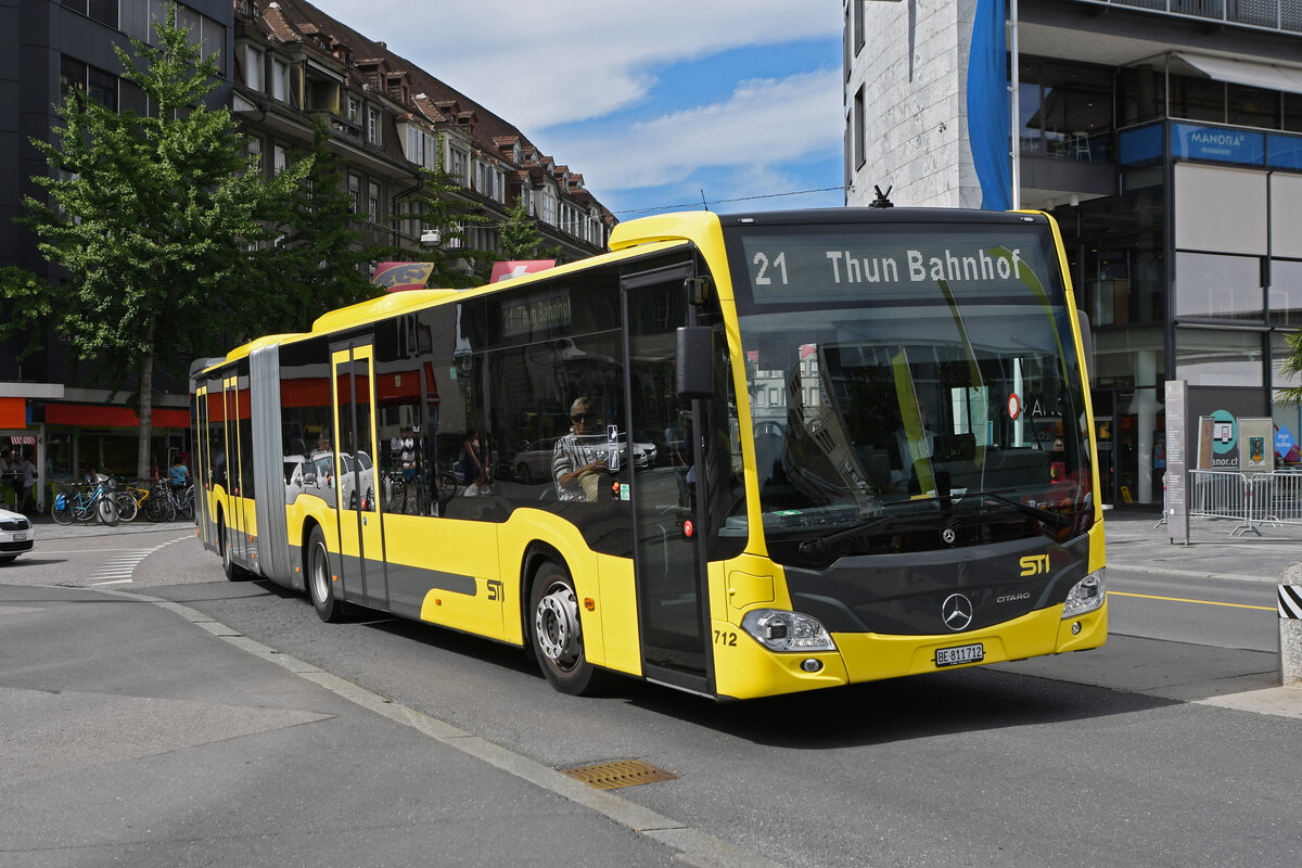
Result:
M771 535L937 509L1023 524L1035 521L1023 504L1073 514L1064 524L1090 511L1083 396L1074 357L1060 355L1072 346L1065 316L1051 319L1032 292L965 299L941 281L932 293L909 307L742 319Z

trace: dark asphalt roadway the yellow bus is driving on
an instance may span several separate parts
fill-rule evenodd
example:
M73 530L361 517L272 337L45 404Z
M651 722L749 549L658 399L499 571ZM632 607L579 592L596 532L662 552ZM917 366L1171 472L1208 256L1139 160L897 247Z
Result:
M184 603L546 766L648 761L680 777L622 799L779 864L1297 861L1302 714L1240 699L1275 677L1268 582L1117 569L1101 649L716 705L631 681L568 698L517 649L365 613L324 625L225 582L193 530L51 540L22 569Z

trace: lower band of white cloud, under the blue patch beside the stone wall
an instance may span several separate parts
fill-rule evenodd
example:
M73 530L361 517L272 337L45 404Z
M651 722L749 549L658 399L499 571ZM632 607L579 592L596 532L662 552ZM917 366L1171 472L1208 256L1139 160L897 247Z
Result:
M759 173L811 154L841 148L840 70L740 82L723 103L700 105L586 137L553 130L548 146L565 154L590 186L630 190L736 167Z

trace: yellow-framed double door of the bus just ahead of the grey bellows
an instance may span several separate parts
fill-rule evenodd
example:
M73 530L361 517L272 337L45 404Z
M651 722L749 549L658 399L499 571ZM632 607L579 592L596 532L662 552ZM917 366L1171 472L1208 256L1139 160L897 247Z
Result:
M335 502L344 599L376 609L388 608L384 537L375 502L375 377L374 347L345 344L332 347L335 384Z

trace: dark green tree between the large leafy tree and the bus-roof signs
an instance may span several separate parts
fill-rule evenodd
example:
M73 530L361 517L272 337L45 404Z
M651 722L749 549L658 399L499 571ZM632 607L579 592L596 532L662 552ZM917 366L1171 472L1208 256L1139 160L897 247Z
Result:
M389 250L362 243L353 198L344 189L339 157L329 148L323 124L312 131L311 148L290 157L292 163L307 160L307 174L272 212L280 237L253 255L270 290L268 332L305 332L328 310L381 295L362 267Z

